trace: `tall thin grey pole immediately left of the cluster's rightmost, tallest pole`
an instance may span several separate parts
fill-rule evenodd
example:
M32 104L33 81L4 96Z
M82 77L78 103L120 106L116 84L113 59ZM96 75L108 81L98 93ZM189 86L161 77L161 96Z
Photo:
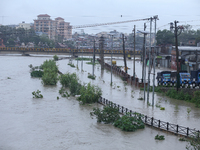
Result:
M152 20L150 18L150 44L149 44L149 70L148 70L148 87L147 87L147 104L149 103L149 87L150 87L150 73L151 73L151 28L152 28Z

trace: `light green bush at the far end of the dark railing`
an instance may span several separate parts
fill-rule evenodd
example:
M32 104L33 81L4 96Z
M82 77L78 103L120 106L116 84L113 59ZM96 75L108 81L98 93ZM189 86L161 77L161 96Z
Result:
M100 96L102 95L102 91L98 86L91 85L88 83L86 86L82 86L80 89L80 97L78 97L79 101L85 103L95 103L98 101Z

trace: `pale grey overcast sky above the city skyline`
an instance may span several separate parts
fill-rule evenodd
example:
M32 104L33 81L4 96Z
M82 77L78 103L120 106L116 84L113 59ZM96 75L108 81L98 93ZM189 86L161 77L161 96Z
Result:
M137 20L158 15L158 29L169 29L169 23L191 24L200 29L200 0L1 0L0 24L33 23L39 14L51 19L62 17L72 26ZM86 33L112 31L131 33L134 25L142 30L145 21L84 28ZM149 22L147 30L149 30ZM80 32L74 29L73 32Z

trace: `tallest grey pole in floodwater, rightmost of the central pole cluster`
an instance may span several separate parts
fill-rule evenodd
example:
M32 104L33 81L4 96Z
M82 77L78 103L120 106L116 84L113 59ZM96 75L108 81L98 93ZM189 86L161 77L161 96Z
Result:
M156 20L158 20L158 16L153 17L155 20L155 42L154 42L154 51L153 51L153 94L152 94L152 106L154 106L154 87L155 87L155 67L156 67Z

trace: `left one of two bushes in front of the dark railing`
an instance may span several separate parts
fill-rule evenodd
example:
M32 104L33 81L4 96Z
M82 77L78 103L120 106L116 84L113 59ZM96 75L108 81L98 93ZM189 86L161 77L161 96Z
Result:
M119 111L117 108L110 106L105 106L103 110L99 108L93 108L93 112L90 113L91 116L96 116L97 122L114 123L120 118Z

